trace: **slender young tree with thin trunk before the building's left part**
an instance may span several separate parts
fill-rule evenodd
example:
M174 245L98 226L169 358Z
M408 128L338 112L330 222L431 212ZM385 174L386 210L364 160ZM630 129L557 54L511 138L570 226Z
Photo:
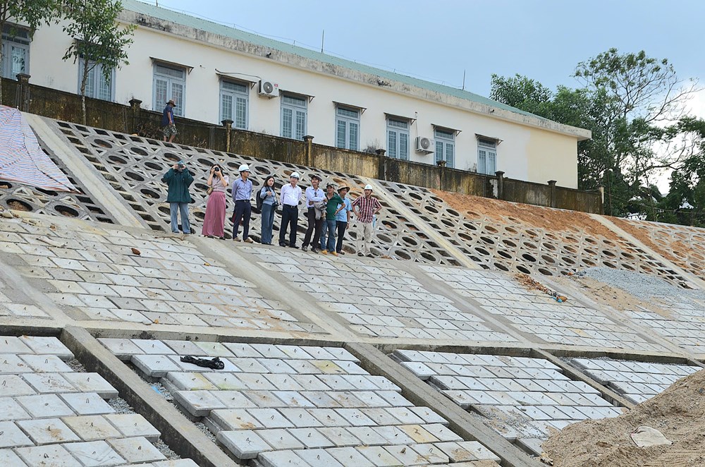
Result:
M66 49L63 59L80 61L82 122L86 124L86 82L89 73L100 65L104 80L111 79L112 71L128 64L126 47L132 44L135 25L121 27L116 23L122 11L121 2L114 0L66 0L68 25L64 32L74 41Z

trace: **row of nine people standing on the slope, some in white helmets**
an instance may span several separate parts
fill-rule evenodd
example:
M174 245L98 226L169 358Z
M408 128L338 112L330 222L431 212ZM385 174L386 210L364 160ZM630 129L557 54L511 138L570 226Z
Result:
M235 202L233 212L233 240L240 241L240 224L243 226L242 241L252 243L250 238L250 217L252 216L252 192L254 187L250 178L250 167L242 164L238 168L240 176L233 181L232 195ZM274 214L281 204L281 224L279 227L279 246L299 248L296 245L298 230L299 205L302 197L301 187L298 186L300 176L293 172L289 183L281 187L279 196L275 191L274 176L267 176L258 188L255 195L259 198L261 206L262 232L261 243L271 245L272 229L274 228ZM177 214L181 214L183 233L191 233L188 222L188 203L191 198L188 186L193 181L193 176L185 169L183 161L174 164L164 174L162 181L168 184L167 202L171 205L171 231L178 233ZM319 188L322 179L311 176L311 186L305 190L306 218L308 222L304 240L301 245L303 251L309 247L313 253L344 255L343 236L348 229L353 215L357 216L362 224L363 250L359 255L372 257L370 245L375 214L381 210L379 200L372 196L372 186L364 187L364 195L350 202L348 186L336 189L332 183L326 185L326 190ZM226 219L226 191L230 185L230 178L223 173L219 164L211 167L208 176L208 200L206 214L203 220L202 235L208 237L225 238ZM288 232L288 239L286 238ZM337 241L336 241L337 238Z

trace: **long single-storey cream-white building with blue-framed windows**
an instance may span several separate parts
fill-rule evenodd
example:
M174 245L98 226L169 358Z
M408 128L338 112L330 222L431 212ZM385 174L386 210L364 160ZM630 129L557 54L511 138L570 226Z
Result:
M140 99L157 111L174 99L177 116L189 119L577 188L577 142L587 130L140 1L123 7L120 20L137 25L130 63L109 83L95 70L91 97ZM79 66L61 60L73 40L61 25L40 28L31 42L21 31L5 37L4 76L27 73L35 85L78 92Z

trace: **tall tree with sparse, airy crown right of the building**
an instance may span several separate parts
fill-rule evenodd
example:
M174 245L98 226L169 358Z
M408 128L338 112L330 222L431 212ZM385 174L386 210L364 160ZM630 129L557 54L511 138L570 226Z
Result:
M697 84L680 80L667 59L617 49L579 63L575 77L589 92L600 93L605 104L599 121L606 131L604 150L591 154L590 163L599 168L594 180L602 178L606 188L606 212L625 215L642 199L651 204L654 217L654 197L644 195L649 190L643 187L693 154L679 121Z

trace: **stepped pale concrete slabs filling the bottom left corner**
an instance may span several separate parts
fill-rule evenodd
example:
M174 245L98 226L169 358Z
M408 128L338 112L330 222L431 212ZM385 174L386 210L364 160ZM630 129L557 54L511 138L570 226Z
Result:
M1 335L0 341L16 353L2 353L0 361L25 362L14 372L6 365L0 375L0 460L6 465L131 466L166 460L152 444L159 431L140 415L115 413L105 399L117 397L117 390L96 373L63 363L73 352L59 339Z

